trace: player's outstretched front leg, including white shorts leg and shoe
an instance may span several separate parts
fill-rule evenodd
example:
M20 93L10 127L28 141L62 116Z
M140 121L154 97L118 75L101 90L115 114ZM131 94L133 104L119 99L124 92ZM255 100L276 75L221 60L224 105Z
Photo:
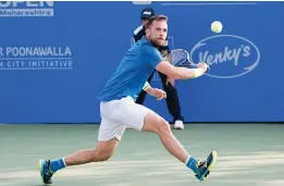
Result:
M200 181L208 177L217 159L214 151L209 154L207 161L197 161L188 154L174 137L170 124L164 119L150 109L135 103L132 98L126 98L124 101L124 108L126 109L124 109L124 114L121 119L128 127L158 134L165 149L181 162L185 163L187 168L192 169Z

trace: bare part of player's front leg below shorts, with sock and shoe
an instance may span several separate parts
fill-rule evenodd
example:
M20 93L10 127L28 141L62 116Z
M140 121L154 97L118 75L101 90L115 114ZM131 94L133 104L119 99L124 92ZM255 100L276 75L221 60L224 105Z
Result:
M198 161L188 154L181 142L174 137L170 124L152 111L146 114L143 131L158 134L165 149L181 162L185 163L187 168L192 169L198 179L205 181L208 178L217 160L215 151L212 151L206 161Z

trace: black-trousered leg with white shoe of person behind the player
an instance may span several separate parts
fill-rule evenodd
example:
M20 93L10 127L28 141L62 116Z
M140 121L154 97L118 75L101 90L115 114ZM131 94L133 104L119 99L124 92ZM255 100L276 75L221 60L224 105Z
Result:
M174 128L176 129L183 129L184 128L184 117L181 113L181 106L180 100L177 96L176 88L171 84L166 82L166 75L159 72L159 75L162 80L163 89L166 92L166 106L168 110L171 113L171 115L174 119Z

